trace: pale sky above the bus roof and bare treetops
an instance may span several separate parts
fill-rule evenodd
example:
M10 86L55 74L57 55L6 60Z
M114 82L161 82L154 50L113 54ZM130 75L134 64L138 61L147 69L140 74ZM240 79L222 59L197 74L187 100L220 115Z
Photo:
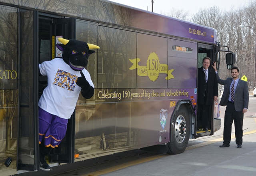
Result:
M110 0L127 6L148 10L151 12L151 0ZM168 14L172 8L189 12L190 16L199 11L200 8L220 7L221 10L229 11L246 5L250 0L154 0L153 12Z

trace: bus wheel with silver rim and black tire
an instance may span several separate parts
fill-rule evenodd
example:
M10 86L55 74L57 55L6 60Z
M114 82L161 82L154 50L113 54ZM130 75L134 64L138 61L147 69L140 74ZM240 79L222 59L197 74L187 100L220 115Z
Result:
M174 131L170 132L174 140L168 143L168 154L180 154L188 145L190 122L186 107L180 107L174 122Z

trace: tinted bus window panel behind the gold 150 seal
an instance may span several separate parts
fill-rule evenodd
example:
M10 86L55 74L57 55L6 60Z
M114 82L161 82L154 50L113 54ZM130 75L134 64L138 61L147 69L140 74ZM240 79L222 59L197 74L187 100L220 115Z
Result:
M166 88L167 38L138 34L137 88ZM139 59L139 60L138 60Z

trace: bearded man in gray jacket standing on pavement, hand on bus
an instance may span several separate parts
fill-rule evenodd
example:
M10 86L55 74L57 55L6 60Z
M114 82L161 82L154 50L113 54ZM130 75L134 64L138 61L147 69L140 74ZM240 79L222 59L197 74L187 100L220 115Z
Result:
M217 73L215 62L212 67ZM223 144L220 145L220 147L230 146L232 123L234 121L236 147L241 148L243 142L243 120L244 113L246 113L248 109L249 91L247 82L238 78L238 67L231 68L231 75L232 78L229 77L223 80L220 79L218 73L216 74L218 83L224 85L220 105L227 106L224 117Z

